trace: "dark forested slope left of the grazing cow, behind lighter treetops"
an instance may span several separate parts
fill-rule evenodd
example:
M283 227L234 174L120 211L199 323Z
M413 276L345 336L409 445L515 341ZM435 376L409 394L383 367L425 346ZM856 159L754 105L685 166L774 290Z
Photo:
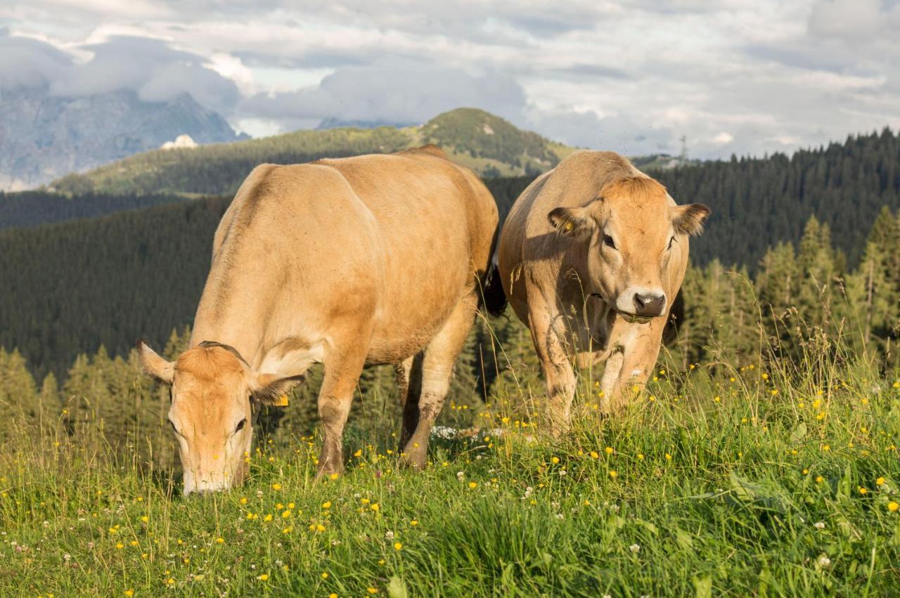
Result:
M64 372L101 344L128 351L193 320L228 201L188 201L0 231L0 345Z

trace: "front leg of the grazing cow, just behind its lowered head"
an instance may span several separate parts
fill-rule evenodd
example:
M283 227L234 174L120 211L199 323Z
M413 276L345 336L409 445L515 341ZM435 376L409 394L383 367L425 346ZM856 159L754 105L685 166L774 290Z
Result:
M367 336L364 336L367 338ZM363 372L367 343L360 337L335 344L324 359L325 378L319 391L319 415L324 430L317 478L344 470L342 439L359 375Z

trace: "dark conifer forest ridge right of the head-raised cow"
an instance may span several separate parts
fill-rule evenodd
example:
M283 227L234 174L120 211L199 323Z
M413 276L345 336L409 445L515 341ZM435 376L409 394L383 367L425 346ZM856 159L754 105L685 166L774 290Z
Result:
M884 129L788 157L732 158L653 173L679 203L713 209L691 245L695 263L718 258L754 268L770 245L797 244L815 216L855 264L882 206L900 206L900 139Z

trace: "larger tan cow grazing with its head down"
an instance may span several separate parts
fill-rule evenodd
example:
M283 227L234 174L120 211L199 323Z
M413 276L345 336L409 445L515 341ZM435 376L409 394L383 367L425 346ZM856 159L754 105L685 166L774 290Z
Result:
M184 493L239 483L251 402L272 403L318 361L319 475L343 470L357 379L377 363L397 366L403 459L422 467L497 222L491 192L437 147L254 169L216 230L191 348L169 362L139 342L144 368L172 385Z

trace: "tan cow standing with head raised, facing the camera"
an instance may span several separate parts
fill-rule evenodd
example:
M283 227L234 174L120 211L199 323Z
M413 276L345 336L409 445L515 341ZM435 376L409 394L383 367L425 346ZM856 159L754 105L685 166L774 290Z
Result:
M601 407L646 382L688 266L688 237L709 215L612 152L579 152L522 192L500 235L500 276L544 370L555 433L570 421L575 376L606 361Z

